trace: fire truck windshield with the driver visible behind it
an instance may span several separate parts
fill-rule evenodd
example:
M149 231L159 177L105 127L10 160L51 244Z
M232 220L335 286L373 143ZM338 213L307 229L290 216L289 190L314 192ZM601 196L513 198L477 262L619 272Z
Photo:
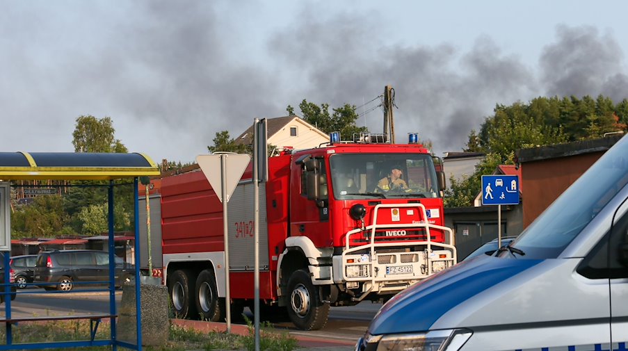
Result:
M426 154L335 154L330 174L336 199L439 196L432 156Z

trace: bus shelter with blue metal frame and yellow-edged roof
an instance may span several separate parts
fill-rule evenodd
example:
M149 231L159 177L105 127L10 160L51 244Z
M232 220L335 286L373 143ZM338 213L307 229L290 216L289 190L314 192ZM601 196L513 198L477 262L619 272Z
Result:
M4 297L5 316L0 323L6 326L6 343L0 345L0 350L22 350L43 348L67 348L77 346L106 346L111 345L117 350L118 345L131 350L141 350L141 311L140 311L140 270L135 268L135 295L136 295L136 343L118 340L116 323L118 311L115 302L115 259L114 259L114 192L115 186L132 182L134 193L135 218L135 262L140 262L138 247L138 178L159 175L159 168L144 154L108 154L108 153L70 153L70 152L0 152L0 251L3 252L4 267L9 267L10 257L10 187L12 181L101 181L108 190L108 297L109 311L104 314L68 315L68 316L12 316L11 289L15 284L10 283L10 272L5 269L2 291ZM129 182L130 181L130 182ZM36 188L36 187L35 187ZM46 186L49 188L49 186ZM13 343L13 332L19 323L39 320L89 320L90 335L86 340L75 341L43 341L38 343ZM95 339L97 328L101 320L111 323L109 338Z

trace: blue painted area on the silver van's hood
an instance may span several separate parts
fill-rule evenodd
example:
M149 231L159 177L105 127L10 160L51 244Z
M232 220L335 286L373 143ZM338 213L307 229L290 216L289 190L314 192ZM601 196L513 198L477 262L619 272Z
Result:
M459 263L398 293L371 322L369 333L424 332L453 307L540 262L486 257Z

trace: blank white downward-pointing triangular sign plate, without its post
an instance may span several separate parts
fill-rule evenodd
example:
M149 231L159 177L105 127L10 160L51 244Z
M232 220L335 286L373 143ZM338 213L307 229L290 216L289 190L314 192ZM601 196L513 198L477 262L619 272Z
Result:
M223 172L220 168L220 158L225 158L226 165L226 191L227 194L223 194ZM196 163L198 163L200 169L205 174L205 178L209 181L211 188L214 189L220 202L223 202L223 198L229 199L236 190L242 174L246 170L246 167L251 161L251 157L248 154L218 154L218 155L199 155L196 156Z

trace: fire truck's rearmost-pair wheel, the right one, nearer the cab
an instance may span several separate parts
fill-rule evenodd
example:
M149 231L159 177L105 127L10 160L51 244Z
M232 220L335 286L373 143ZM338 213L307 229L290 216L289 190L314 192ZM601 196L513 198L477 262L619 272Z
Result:
M196 279L196 293L196 307L202 320L220 322L225 318L225 299L218 298L213 270L200 272Z

